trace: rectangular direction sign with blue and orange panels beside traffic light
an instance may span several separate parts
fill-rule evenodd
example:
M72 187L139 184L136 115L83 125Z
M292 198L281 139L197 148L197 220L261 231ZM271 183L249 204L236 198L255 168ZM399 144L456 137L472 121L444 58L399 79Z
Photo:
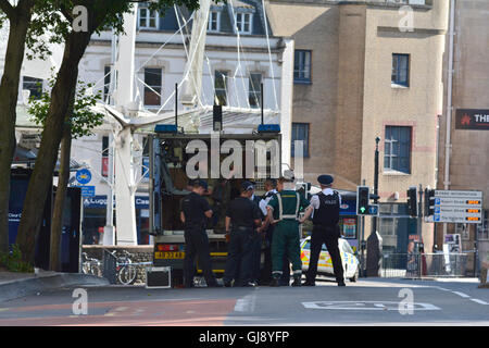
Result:
M480 224L482 192L435 190L432 222Z

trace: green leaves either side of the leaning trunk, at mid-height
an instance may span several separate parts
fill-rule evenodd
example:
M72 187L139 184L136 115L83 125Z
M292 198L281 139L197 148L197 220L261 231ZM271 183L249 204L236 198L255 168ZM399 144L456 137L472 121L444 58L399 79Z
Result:
M48 85L53 87L55 80L50 78ZM91 134L91 130L103 123L103 114L91 110L98 101L102 100L102 94L91 94L93 85L78 82L76 88L75 102L72 114L67 115L65 122L70 124L72 137L74 139ZM42 92L41 98L36 100L29 99L28 113L32 115L33 122L43 126L48 117L51 103L51 95L47 91Z

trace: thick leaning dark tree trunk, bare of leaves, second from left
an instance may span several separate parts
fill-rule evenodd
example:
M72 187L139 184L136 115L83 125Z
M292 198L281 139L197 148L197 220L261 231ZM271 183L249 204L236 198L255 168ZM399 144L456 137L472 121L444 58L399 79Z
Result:
M52 182L63 125L72 92L76 88L78 63L90 42L90 35L91 32L74 32L66 38L63 62L51 92L51 104L18 226L17 244L23 260L26 262L34 261L36 237L42 222L43 207Z

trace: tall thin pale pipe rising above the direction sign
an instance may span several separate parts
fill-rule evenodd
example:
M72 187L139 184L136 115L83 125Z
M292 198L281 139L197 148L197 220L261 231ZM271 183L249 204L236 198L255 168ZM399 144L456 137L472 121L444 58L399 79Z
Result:
M450 0L450 44L449 44L449 67L448 67L448 89L447 89L447 133L444 142L444 189L450 188L450 151L451 144L451 127L452 127L452 94L453 94L453 42L455 35L455 5L456 0ZM443 223L443 241L447 235L447 223Z

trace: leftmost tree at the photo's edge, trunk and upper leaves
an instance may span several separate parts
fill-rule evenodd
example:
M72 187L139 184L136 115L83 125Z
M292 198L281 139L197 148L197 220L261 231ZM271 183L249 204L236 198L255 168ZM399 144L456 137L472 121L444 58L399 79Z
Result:
M9 247L10 167L15 152L15 121L18 84L24 55L46 58L48 44L61 42L66 23L53 11L60 0L0 0L0 27L9 26L5 64L0 83L0 252ZM62 0L67 1L67 0ZM36 16L34 16L36 13ZM49 40L38 40L50 23L60 22ZM27 48L27 50L26 50Z

